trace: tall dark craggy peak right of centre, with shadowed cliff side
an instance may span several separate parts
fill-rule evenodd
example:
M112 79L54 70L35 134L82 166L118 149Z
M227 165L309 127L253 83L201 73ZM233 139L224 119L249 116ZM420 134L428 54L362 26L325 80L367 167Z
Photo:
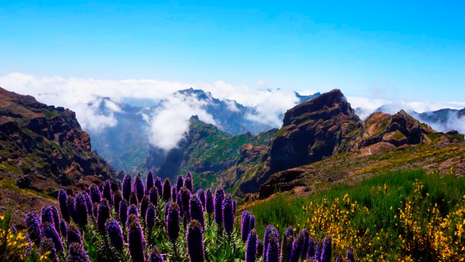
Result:
M263 167L243 180L238 193L258 191L271 174L281 170L346 151L359 126L358 116L337 89L295 106L284 114Z

